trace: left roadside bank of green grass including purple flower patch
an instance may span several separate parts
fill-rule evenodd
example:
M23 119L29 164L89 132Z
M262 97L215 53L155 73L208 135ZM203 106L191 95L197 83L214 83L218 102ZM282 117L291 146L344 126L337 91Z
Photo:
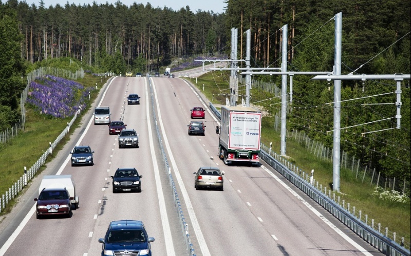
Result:
M20 177L24 174L24 167L28 170L43 155L49 147L49 142L53 142L65 129L67 122L70 122L72 119L74 113L70 111L69 104L61 105L64 98L70 98L72 96L73 98L70 99L73 100L73 102L81 103L81 115L79 115L74 122L72 129L70 129L69 135L66 135L57 145L53 153L47 159L47 162L57 156L65 143L70 140L70 134L74 131L74 129L76 129L76 127L79 126L82 116L90 109L92 102L96 99L102 85L107 81L107 79L108 78L101 78L100 76L86 73L84 78L77 81L70 81L58 77L49 77L49 79L42 78L32 83L33 91L38 90L41 86L50 89L56 85L50 84L50 82L54 83L58 81L57 83L59 84L60 92L65 92L68 94L66 94L66 97L61 95L62 98L58 98L57 96L59 95L59 90L49 92L49 100L54 99L55 102L51 102L48 106L52 106L53 103L57 105L60 104L60 110L64 111L49 113L46 111L46 113L41 113L44 112L44 110L49 110L47 106L44 105L45 101L36 101L35 98L31 98L32 103L28 104L29 106L26 107L25 130L21 130L18 133L18 136L14 137L12 140L9 140L6 144L0 144L0 176L2 177L2 182L0 182L0 195L5 194L5 192L8 191L8 189L18 179L20 179ZM97 90L96 84L98 85ZM73 90L70 90L70 88ZM87 93L86 97L84 92ZM88 99L88 92L90 92L90 100ZM51 94L53 94L53 96L51 96ZM41 96L37 99L40 98ZM74 98L76 100L74 100ZM61 113L67 113L67 115L61 115ZM43 166L41 170L45 168L46 166ZM38 174L41 173L41 170ZM0 216L10 212L15 203L15 199L11 200L6 208L2 210Z

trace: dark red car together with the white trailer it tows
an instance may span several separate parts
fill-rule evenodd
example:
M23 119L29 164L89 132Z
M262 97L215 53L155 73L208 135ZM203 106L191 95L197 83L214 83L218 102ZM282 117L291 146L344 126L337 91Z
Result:
M79 208L76 184L71 175L45 175L40 183L36 201L36 218L63 215L71 217L71 206Z

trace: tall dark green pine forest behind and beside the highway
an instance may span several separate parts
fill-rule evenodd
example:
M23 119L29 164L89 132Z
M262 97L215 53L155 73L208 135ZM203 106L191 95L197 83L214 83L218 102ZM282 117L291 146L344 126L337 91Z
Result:
M62 6L0 1L0 130L20 118L22 77L36 63L73 58L96 71L158 71L176 59L230 56L231 28L238 29L238 56L245 58L250 29L252 67L281 67L282 31L288 25L288 69L332 71L333 16L343 13L342 74L410 74L410 13L404 0L225 0L225 13L154 8L134 3ZM305 131L332 147L332 83L294 77L288 129ZM281 84L281 77L254 76ZM341 146L387 177L410 180L410 89L401 83L401 129L396 126L396 82L343 81ZM391 93L391 94L388 94ZM267 96L271 97L271 96ZM252 102L252 101L251 101ZM371 105L372 104L372 105ZM273 105L276 113L280 106ZM382 132L369 133L372 131ZM367 133L365 136L363 133Z

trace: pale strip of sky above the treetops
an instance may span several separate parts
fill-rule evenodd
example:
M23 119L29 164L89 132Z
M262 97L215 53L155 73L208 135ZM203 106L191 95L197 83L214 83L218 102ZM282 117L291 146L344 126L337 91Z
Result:
M22 2L24 0L21 0ZM40 0L25 0L28 5L36 5L39 6ZM50 5L55 6L57 2L61 6L65 6L66 3L68 2L70 5L75 4L75 5L87 5L90 4L92 5L93 2L96 2L98 5L99 4L115 4L118 0L60 0L60 1L55 1L55 0L43 0L44 6L49 7ZM190 7L190 10L193 13L196 13L197 10L201 9L201 11L213 11L214 13L223 13L225 12L224 8L226 7L226 4L224 3L224 0L120 0L123 5L130 6L134 2L137 4L143 4L144 6L147 5L147 3L150 3L154 8L160 7L163 8L164 6L167 8L171 8L175 11L180 10L181 8L185 8L186 6Z

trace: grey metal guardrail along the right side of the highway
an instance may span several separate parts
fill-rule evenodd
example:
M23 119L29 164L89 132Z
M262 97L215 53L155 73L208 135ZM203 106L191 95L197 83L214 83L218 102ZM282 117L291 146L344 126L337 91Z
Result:
M216 116L221 119L221 114L210 102L210 109ZM283 175L287 180L293 183L307 196L326 209L332 216L340 220L344 225L351 229L354 233L358 234L364 241L383 252L385 255L410 255L410 251L395 241L384 236L384 234L378 232L366 223L353 216L348 210L343 208L337 202L331 199L331 190L328 190L329 196L323 193L321 190L315 188L309 183L308 174L304 177L304 174L298 172L299 168L296 168L297 172L293 172L286 166L292 166L286 159L280 158L277 154L274 154L270 148L261 143L261 151L259 154L267 164L273 167L278 173ZM277 159L276 159L277 158ZM281 161L284 162L281 163ZM295 166L294 166L295 167ZM294 168L295 169L295 168ZM302 176L302 177L301 177Z

